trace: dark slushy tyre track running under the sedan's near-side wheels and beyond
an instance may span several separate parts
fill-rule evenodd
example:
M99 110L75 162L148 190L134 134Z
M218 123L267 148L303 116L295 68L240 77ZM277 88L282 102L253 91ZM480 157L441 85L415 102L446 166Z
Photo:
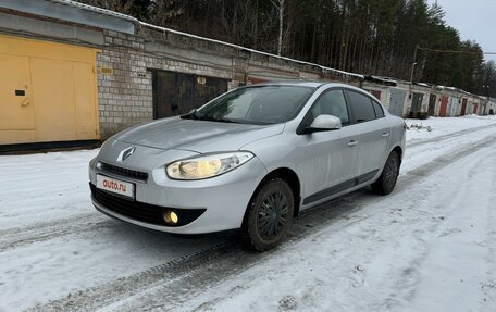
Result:
M409 171L398 180L395 192L408 191L408 185L488 147L495 139L496 135L486 136L466 149L436 158ZM309 233L323 226L335 226L338 229L367 219L367 215L359 214L360 209L381 201L382 198L362 190L306 210L295 220L288 239L278 248L264 253L244 251L233 239L127 277L69 294L65 298L38 304L29 311L171 310L195 296L195 290L203 289L206 285L219 284L230 275L257 265L261 260L298 242ZM333 209L328 209L330 207Z

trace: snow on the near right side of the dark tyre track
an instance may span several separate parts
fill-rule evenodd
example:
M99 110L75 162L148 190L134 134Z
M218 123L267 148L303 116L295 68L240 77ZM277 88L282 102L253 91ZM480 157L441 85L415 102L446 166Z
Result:
M495 311L495 159L484 148L404 186L182 310Z

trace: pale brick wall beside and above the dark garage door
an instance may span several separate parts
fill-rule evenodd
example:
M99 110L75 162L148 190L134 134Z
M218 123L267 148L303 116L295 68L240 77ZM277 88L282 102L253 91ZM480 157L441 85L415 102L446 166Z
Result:
M190 60L188 54L191 51L187 49L166 45L157 47L147 49L145 38L139 35L104 30L104 47L97 53L102 139L153 118L153 70L221 77L234 84L230 58L223 58L223 62L227 62L227 66L223 67L219 60L209 61L208 53L201 55L201 52L197 52L197 60ZM215 58L219 59L219 55Z

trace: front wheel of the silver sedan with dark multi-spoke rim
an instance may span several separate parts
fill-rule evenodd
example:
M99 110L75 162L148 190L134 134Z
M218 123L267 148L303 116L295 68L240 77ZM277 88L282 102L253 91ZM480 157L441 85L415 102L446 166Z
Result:
M263 184L248 204L241 226L244 246L257 251L276 246L289 230L294 209L293 190L285 180Z

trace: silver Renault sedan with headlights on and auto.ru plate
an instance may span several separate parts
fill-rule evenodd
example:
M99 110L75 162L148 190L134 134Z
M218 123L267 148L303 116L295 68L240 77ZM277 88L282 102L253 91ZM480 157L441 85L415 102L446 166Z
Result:
M262 251L307 208L368 185L392 192L405 129L348 85L241 87L108 139L89 164L91 199L109 216L162 232L239 228Z

